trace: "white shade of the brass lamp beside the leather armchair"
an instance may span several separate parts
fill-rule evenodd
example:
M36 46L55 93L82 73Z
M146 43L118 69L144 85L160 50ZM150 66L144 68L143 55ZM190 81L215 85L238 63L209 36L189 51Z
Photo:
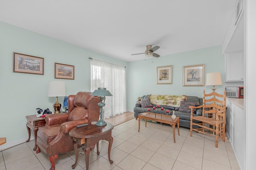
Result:
M48 97L66 96L65 82L50 81L48 87Z

